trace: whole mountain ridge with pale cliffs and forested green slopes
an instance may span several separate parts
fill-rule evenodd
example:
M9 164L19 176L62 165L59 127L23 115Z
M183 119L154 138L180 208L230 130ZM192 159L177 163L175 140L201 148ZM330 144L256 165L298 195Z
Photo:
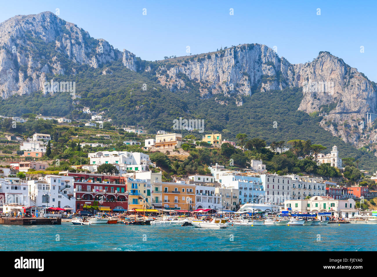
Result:
M51 79L75 81L77 97L43 92L44 82ZM377 113L376 91L374 82L329 52L320 52L310 63L291 64L270 47L254 43L152 62L114 49L51 12L17 15L0 24L2 115L85 118L78 110L89 106L108 109L118 124L172 130L175 118L203 118L206 132L224 131L233 139L235 132L254 132L269 142L294 139L299 131L306 134L306 120L311 134L302 139L325 144L327 133L336 139L326 139L327 147L333 142L339 146L342 139L375 153L376 124L368 123L365 113ZM259 121L248 115L256 110ZM284 126L282 121L294 124L287 123L290 130L278 134L255 126L262 121L268 126L273 121L279 126ZM317 138L316 129L321 130ZM365 155L352 151L347 153Z

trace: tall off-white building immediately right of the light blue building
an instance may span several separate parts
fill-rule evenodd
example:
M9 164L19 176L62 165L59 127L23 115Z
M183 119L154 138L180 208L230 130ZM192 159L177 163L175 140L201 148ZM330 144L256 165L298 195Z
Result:
M276 174L261 174L263 188L266 191L266 202L281 205L285 199L290 199L292 179Z

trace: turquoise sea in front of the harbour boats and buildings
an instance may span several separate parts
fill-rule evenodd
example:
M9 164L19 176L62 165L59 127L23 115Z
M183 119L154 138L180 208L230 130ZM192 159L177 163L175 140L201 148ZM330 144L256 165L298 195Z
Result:
M376 251L377 225L0 225L2 251Z

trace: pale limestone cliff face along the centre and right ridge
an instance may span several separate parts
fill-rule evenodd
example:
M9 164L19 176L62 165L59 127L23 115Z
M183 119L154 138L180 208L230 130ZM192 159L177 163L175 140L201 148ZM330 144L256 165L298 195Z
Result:
M200 84L203 98L223 93L242 105L242 95L284 87L301 87L299 110L323 116L320 125L357 147L376 143L377 134L365 113L377 113L377 89L356 68L329 52L320 52L311 63L290 64L262 44L244 44L222 51L181 57L156 71L160 83L172 92L185 90L187 80ZM226 101L219 101L226 104ZM314 112L317 112L314 114ZM363 125L365 128L361 128Z

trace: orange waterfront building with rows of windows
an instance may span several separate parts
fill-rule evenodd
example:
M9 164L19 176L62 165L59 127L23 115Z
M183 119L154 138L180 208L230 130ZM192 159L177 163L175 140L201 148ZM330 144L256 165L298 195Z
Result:
M195 210L195 185L169 182L154 182L154 185L161 185L164 208Z

